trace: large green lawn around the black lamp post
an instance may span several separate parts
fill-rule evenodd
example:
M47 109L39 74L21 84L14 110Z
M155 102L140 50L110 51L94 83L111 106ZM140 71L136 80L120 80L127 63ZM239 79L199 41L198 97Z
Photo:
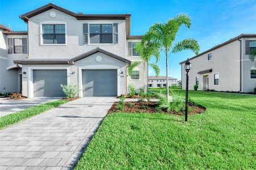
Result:
M76 169L255 169L256 96L189 96L207 110L187 123L170 114L109 114Z

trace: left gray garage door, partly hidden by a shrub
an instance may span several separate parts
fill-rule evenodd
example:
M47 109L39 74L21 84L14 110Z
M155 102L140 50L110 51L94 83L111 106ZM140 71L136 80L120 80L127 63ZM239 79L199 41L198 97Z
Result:
M67 70L34 70L35 97L63 97L60 84L67 84Z

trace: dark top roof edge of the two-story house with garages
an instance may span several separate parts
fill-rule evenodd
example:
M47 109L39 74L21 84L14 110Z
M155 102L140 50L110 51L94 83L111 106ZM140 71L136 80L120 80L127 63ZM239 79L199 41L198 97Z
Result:
M53 3L48 3L45 6L42 6L40 8L37 8L35 10L32 10L30 12L27 12L26 14L20 15L19 18L23 19L24 22L27 23L27 21L38 14L41 14L42 12L51 10L52 8L59 10L61 12L64 12L65 14L71 15L75 17L77 20L92 20L92 19L125 19L126 22L126 36L127 39L140 39L139 36L131 36L131 14L82 14L82 13L75 13L72 11L69 11L63 7L54 5Z

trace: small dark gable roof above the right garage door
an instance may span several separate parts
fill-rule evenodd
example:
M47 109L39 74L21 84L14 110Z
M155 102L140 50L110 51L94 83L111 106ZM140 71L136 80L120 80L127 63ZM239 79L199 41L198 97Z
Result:
M128 60L128 59L125 59L125 58L120 57L120 56L117 56L117 55L115 55L115 54L113 54L113 53L107 52L107 51L105 51L105 50L103 50L103 49L100 49L100 48L98 48L98 47L97 47L96 49L90 50L89 52L86 52L86 53L84 53L84 54L81 54L80 56L77 56L77 57L74 57L74 58L72 58L72 59L69 59L69 62L76 62L76 61L79 61L80 59L89 57L89 56L91 56L92 54L96 54L96 53L98 53L98 52L101 52L101 53L103 53L103 54L106 54L107 56L113 57L113 58L118 59L118 60L120 60L120 61L129 63L129 64L131 63L131 61Z

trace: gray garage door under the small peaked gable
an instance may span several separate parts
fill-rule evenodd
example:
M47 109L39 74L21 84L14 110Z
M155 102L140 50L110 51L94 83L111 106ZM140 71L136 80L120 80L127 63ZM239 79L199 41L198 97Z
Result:
M84 96L117 96L117 70L82 70Z

